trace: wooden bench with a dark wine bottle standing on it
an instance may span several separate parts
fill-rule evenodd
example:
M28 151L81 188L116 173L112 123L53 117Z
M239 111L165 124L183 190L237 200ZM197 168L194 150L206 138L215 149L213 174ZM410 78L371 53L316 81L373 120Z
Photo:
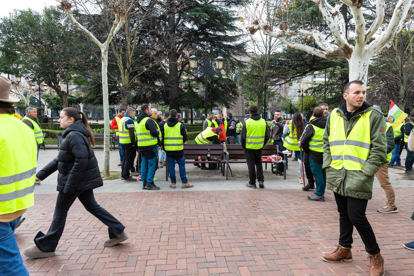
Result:
M208 149L210 149L210 160L207 160ZM201 161L197 161L198 156L201 157ZM224 175L224 165L226 164L226 161L224 161L224 148L222 144L184 145L184 158L185 158L186 164L187 163L219 164L219 167L221 169L220 172L223 173ZM213 158L220 159L220 161L213 161L212 160ZM168 181L168 175L169 175L168 161L166 163L167 163L167 166L165 166L165 181Z

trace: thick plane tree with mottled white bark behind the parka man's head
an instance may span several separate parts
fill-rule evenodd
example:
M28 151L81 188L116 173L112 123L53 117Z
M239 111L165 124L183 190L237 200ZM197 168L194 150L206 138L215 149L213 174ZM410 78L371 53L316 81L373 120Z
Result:
M280 1L277 8L273 6L274 18L284 14L278 22L279 26L270 25L268 17L264 20L261 18L263 12L257 11L260 10L262 2L258 3L253 16L250 17L253 22L248 31L254 34L262 30L263 34L278 38L289 49L303 50L320 58L344 58L349 64L349 81L360 79L366 83L371 59L380 50L391 46L392 38L404 28L404 24L412 15L412 0L399 0L395 6L388 7L388 12L393 11L392 16L388 22L384 22L385 0L376 0L375 19L371 26L367 26L367 9L363 7L363 0L341 0L332 5L327 0L309 1L318 5L332 36L327 36L319 28L302 29L298 24L292 24L294 29L291 29L286 12L295 2L289 4L288 0ZM343 7L351 11L353 30L347 30L345 27ZM355 45L346 37L347 32L348 36L354 34Z

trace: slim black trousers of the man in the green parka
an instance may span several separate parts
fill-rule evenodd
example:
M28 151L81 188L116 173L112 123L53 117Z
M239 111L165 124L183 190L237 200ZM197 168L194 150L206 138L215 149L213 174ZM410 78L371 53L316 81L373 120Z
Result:
M366 218L367 199L343 197L334 192L339 212L339 245L350 248L352 245L352 231L354 226L361 236L365 250L369 254L380 252L374 231Z

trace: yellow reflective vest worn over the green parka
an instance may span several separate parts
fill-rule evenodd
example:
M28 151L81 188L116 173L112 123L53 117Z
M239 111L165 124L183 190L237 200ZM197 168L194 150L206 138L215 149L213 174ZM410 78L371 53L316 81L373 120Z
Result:
M361 170L371 148L369 116L372 110L359 116L348 137L345 136L344 118L335 108L330 117L329 147L332 157L331 167L337 170Z

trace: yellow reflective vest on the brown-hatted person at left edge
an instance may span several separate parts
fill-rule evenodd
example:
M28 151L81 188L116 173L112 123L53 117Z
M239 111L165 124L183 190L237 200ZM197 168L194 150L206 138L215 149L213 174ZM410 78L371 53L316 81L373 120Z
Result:
M37 124L36 124L37 125ZM0 114L0 215L34 205L37 146L33 130L10 114Z

